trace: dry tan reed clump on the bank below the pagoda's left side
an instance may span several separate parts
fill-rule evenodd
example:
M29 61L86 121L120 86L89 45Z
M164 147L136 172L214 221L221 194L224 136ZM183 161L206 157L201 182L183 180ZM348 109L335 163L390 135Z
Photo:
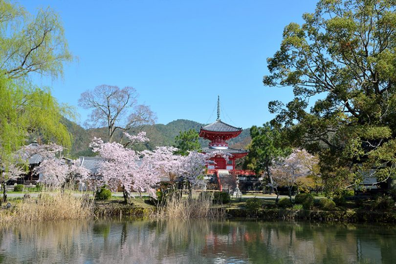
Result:
M222 206L214 208L211 196L201 196L198 199L183 199L176 193L167 197L162 206L151 215L152 219L221 219L225 215Z

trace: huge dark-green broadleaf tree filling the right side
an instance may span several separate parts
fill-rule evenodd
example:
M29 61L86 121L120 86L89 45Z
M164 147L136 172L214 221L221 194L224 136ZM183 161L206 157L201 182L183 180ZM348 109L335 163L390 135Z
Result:
M395 7L395 0L321 0L303 24L285 27L267 60L264 85L292 87L295 96L269 103L272 122L320 153L328 190L396 175ZM309 100L316 101L308 110Z

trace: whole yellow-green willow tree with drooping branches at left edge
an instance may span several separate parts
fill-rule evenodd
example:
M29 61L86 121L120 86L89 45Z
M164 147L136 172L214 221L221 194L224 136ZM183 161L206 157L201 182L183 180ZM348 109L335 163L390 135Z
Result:
M72 110L29 78L32 72L62 75L63 63L71 60L58 15L48 8L32 16L21 6L0 0L0 58L0 181L5 185L9 176L16 176L11 171L20 161L13 154L29 134L71 145L61 119Z

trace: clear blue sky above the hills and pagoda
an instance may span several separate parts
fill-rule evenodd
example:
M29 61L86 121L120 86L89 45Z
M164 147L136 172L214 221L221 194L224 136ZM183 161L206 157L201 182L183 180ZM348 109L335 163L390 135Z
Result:
M78 59L63 79L36 80L63 103L107 84L132 86L157 123L221 119L248 128L273 116L268 102L292 98L291 88L264 87L266 58L280 47L284 27L302 23L316 0L20 0L29 12L50 6L62 18ZM83 122L87 111L78 108Z

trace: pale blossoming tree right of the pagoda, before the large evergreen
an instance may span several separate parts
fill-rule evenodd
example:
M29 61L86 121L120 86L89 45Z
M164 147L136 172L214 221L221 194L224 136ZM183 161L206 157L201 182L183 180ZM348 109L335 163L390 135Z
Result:
M288 189L291 201L291 191L299 177L308 176L313 173L312 168L317 158L306 150L295 149L286 158L274 160L270 167L275 184L285 186Z

